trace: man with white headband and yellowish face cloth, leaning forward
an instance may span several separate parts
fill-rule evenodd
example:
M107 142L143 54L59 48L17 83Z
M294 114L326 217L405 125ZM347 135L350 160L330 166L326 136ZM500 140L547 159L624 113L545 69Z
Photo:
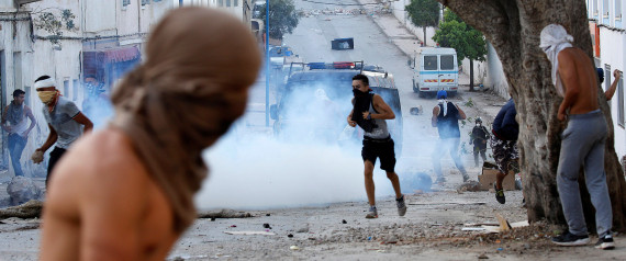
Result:
M91 121L74 102L65 99L55 86L54 79L49 76L42 76L35 80L35 90L44 103L42 112L48 123L49 134L42 147L35 149L32 156L33 162L41 163L44 160L44 152L55 145L48 160L46 186L58 160L83 132L87 133L93 127Z

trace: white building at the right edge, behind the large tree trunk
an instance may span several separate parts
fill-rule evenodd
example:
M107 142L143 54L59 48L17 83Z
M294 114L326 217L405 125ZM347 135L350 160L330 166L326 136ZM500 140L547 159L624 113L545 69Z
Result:
M626 26L623 23L626 8L623 0L586 0L586 7L595 66L604 70L603 89L606 90L613 82L613 71L619 70L623 73L626 66ZM625 99L624 79L621 78L610 105L615 152L622 162L626 156Z

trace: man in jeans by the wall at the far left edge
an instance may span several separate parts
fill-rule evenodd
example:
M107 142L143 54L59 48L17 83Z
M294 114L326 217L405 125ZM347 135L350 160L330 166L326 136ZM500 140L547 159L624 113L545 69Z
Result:
M4 107L2 113L2 129L9 133L9 155L11 156L11 164L15 175L24 175L22 171L22 151L29 141L29 133L35 127L37 121L33 116L33 112L26 104L24 104L24 95L26 92L16 89L13 91L13 101ZM31 124L29 126L29 121Z

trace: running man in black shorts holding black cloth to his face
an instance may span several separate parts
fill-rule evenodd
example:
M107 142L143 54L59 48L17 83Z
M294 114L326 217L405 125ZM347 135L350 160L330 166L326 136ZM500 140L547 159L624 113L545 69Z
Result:
M395 191L398 214L404 216L406 204L404 203L404 195L400 192L400 180L394 171L394 144L385 122L385 120L395 118L395 114L380 95L370 93L370 91L367 76L356 75L353 77L354 109L347 120L351 127L359 125L364 129L361 157L365 163L365 185L369 201L366 218L378 217L373 184L373 166L377 158L380 158L380 168L387 172L387 178Z

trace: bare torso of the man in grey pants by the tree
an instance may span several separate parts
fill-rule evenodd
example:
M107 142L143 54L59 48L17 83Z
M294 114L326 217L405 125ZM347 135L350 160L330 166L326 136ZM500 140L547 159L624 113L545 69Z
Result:
M568 95L572 99L569 102L569 114L597 110L596 72L589 56L580 48L570 47L561 50L558 59L558 72L566 89L566 99Z

